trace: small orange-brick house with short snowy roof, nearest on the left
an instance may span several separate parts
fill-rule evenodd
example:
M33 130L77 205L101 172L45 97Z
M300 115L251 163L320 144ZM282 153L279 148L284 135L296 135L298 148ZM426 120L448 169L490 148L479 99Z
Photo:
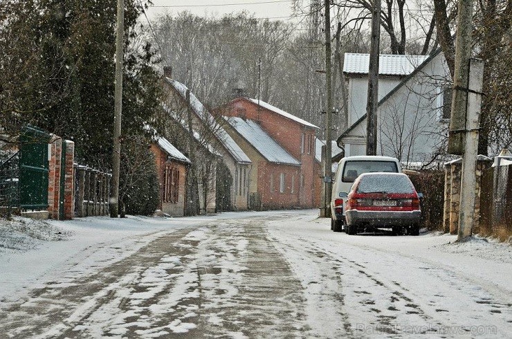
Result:
M165 138L157 138L151 145L155 155L160 203L158 208L173 217L185 214L185 180L190 160Z

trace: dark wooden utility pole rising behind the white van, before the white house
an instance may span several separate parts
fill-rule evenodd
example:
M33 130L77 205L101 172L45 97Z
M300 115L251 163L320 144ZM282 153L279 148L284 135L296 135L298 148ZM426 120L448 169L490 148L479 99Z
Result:
M377 154L378 56L381 42L381 0L374 0L372 42L369 53L368 97L366 104L366 155Z

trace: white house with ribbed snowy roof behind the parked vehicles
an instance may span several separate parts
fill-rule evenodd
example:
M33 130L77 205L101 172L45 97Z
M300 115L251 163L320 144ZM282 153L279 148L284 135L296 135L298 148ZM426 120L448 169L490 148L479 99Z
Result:
M349 128L337 140L345 156L366 153L368 66L369 55L345 54ZM430 56L381 55L377 154L395 156L403 163L430 162L444 154L450 89L450 73L441 51Z

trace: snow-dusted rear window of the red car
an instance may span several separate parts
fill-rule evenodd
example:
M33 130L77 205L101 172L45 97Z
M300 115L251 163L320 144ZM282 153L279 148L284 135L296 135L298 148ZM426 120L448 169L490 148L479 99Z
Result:
M405 175L374 174L360 179L357 192L412 193L414 187Z

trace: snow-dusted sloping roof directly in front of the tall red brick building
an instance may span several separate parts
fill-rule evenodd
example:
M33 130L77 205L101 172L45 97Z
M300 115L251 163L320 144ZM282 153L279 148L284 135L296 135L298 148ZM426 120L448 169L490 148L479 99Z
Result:
M271 163L282 163L289 165L300 165L300 162L293 158L282 148L266 131L253 120L244 120L238 117L226 118L230 125L262 154Z

